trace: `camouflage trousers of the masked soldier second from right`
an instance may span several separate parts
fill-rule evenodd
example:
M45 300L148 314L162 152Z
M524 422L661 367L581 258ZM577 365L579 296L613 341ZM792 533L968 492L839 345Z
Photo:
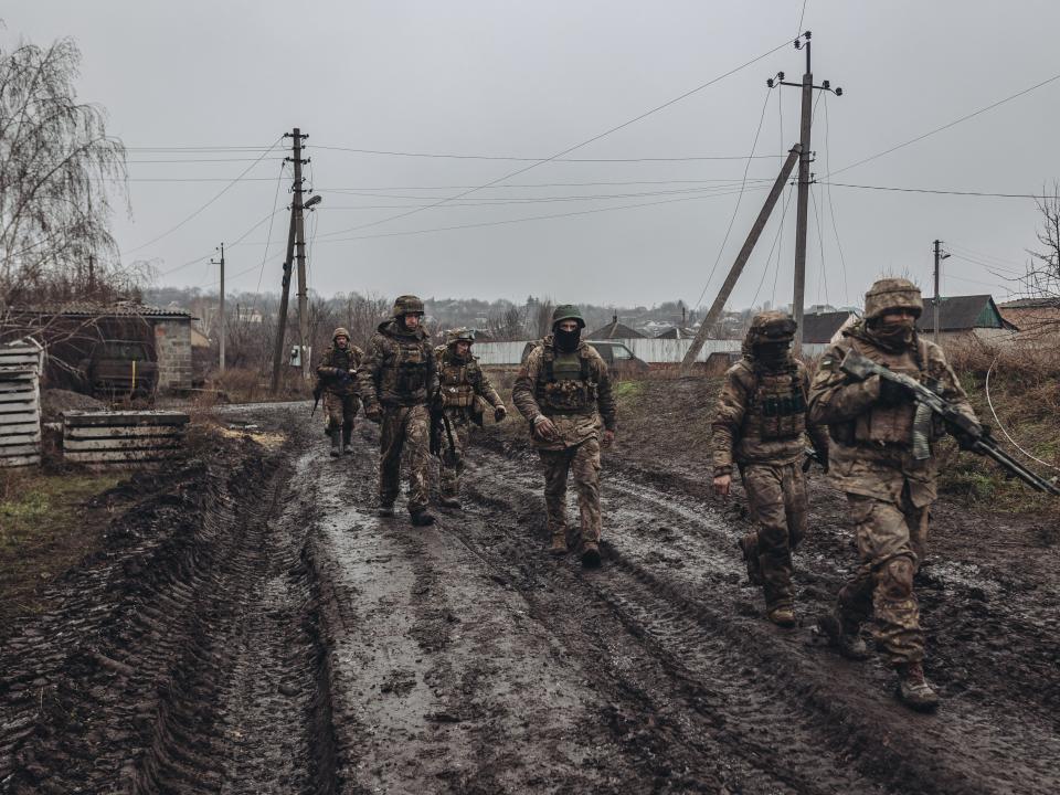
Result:
M757 571L767 610L791 607L792 550L806 534L806 478L797 463L745 464L740 467L755 532L741 544Z

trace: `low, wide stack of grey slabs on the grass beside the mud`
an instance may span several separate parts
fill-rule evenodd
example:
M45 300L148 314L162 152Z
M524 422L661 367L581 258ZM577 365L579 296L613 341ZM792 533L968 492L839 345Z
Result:
M63 458L95 468L161 462L180 448L188 421L176 411L66 412Z

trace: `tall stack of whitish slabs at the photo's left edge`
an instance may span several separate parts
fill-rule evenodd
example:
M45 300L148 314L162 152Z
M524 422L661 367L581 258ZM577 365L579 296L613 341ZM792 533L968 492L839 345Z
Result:
M41 367L33 340L0 346L0 467L41 463Z

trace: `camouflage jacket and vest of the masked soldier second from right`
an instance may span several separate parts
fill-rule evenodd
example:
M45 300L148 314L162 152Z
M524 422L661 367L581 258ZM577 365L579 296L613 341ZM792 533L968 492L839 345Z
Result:
M792 360L778 372L765 370L750 354L725 372L712 423L714 477L736 464L791 464L803 456L806 433L814 449L828 455L828 432L807 417L809 374Z

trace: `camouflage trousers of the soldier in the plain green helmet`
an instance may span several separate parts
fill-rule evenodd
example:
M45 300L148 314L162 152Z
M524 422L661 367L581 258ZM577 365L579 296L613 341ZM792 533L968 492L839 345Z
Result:
M539 449L544 471L544 507L549 532L566 533L566 476L574 474L582 541L600 542L600 439L591 437L561 451Z

